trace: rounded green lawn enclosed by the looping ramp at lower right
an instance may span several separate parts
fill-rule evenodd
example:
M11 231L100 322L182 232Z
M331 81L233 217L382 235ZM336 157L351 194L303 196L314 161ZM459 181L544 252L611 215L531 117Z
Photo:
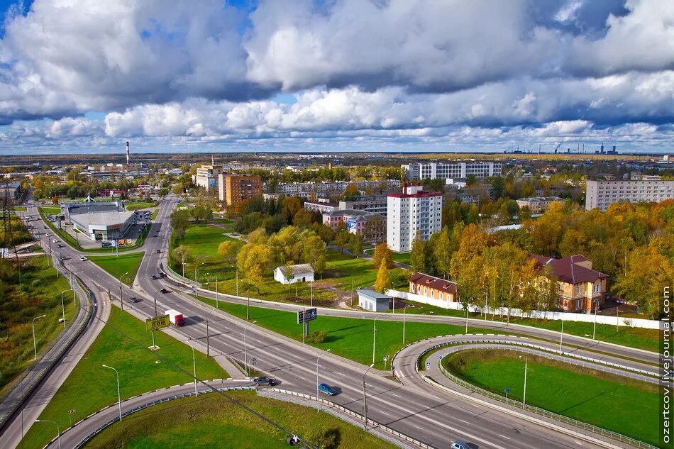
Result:
M443 358L446 369L492 392L522 399L521 353L465 350ZM526 403L658 444L658 386L544 357L527 357Z

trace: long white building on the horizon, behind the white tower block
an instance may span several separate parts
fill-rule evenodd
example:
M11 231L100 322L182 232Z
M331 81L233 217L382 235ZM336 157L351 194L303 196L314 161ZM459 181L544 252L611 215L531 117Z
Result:
M410 181L436 178L465 179L469 174L480 179L501 174L500 162L416 162L400 167L407 170Z

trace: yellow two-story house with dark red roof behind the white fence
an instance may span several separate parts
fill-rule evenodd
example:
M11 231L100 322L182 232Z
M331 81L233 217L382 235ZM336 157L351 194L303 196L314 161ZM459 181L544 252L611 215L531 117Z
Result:
M592 313L596 306L604 304L608 275L592 270L592 260L584 255L572 255L553 259L530 254L536 259L538 270L551 268L557 282L557 306L565 312Z

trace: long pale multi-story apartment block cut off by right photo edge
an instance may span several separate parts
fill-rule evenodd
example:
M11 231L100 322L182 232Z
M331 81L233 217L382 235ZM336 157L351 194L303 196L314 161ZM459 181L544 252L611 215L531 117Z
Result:
M585 210L605 211L618 201L659 203L674 198L674 181L587 181Z

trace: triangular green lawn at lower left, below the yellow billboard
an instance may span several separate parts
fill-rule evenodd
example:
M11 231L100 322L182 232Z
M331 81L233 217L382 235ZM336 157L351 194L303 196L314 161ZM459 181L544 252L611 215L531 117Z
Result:
M156 363L156 355L166 357L183 370L192 373L192 349L165 333L155 334L160 350L150 352L150 333L145 323L127 312L112 307L109 321L94 344L84 354L55 397L40 414L40 419L57 421L61 430L69 426L68 410L74 409L73 422L117 401L116 377L109 365L119 372L122 399L149 392L160 387L192 381L192 377L177 370L167 361ZM196 353L197 377L219 379L227 373L206 355ZM26 448L41 448L55 436L54 425L35 423L26 434ZM184 444L184 440L182 441Z

